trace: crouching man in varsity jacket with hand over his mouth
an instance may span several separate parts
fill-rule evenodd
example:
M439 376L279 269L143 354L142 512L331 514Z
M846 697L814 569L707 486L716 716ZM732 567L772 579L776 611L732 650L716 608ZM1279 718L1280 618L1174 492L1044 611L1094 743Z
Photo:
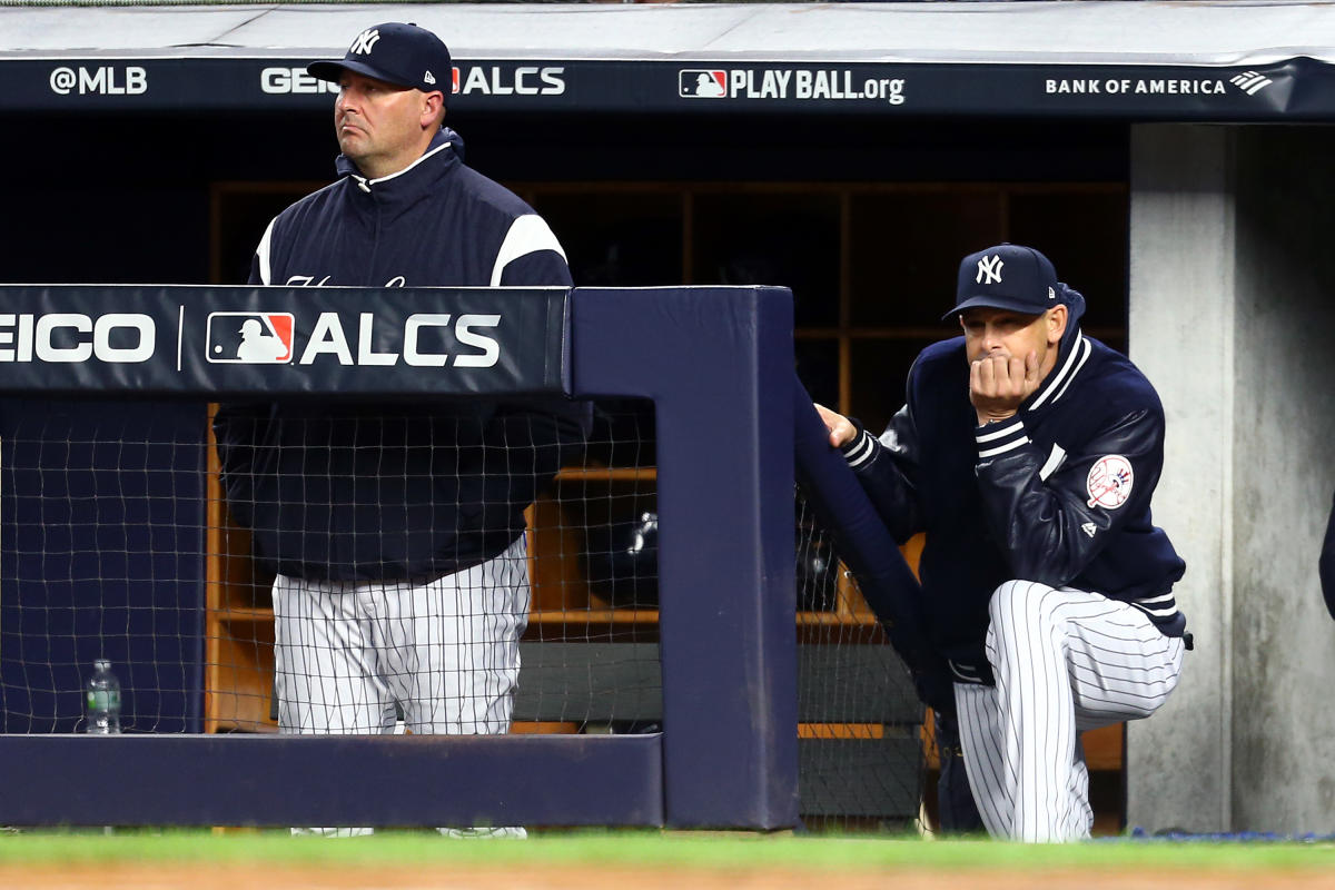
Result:
M1191 648L1149 516L1163 408L1083 314L1039 251L972 254L945 315L964 336L922 351L878 439L817 406L894 538L926 532L928 634L997 838L1088 837L1079 733L1153 714Z

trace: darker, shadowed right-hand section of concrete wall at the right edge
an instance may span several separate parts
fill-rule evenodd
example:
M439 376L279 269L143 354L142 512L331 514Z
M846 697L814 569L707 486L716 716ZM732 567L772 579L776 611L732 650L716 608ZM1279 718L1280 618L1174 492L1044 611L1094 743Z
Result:
M1335 831L1335 128L1244 128L1235 156L1234 822Z

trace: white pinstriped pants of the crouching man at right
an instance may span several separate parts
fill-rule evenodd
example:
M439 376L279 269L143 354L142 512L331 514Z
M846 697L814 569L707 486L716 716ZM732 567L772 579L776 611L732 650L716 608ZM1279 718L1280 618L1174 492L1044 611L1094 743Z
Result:
M996 687L955 685L969 787L988 833L1088 838L1084 730L1153 714L1177 685L1184 644L1135 606L1009 580L988 607Z

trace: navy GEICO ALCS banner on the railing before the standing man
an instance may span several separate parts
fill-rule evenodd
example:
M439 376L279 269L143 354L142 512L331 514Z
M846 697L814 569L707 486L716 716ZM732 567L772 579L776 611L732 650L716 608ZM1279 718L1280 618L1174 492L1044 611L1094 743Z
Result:
M569 390L566 288L0 287L0 391Z

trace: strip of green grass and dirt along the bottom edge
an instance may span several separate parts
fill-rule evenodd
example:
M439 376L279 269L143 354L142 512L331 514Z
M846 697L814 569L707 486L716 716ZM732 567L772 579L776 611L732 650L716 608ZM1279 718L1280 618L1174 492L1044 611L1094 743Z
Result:
M1335 887L1335 845L1092 842L1027 847L737 833L579 831L527 841L434 833L291 838L24 833L0 837L3 887Z

